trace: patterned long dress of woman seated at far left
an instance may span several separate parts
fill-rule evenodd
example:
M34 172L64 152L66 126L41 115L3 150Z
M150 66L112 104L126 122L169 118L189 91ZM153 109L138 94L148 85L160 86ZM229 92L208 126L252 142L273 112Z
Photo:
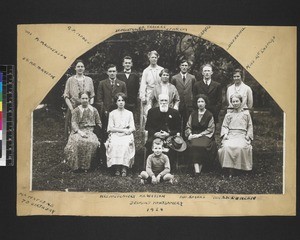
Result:
M72 170L88 170L96 156L100 145L97 136L93 133L96 125L101 126L99 113L96 108L81 105L72 113L72 132L65 147L67 164ZM81 137L78 130L83 131L87 137Z

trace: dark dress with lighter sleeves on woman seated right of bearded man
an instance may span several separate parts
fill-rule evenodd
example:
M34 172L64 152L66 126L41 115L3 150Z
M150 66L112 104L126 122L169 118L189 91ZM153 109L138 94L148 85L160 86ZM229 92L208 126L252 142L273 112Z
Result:
M215 124L210 111L192 112L187 122L186 136L202 134L199 138L189 140L188 152L193 163L212 164L217 157L217 145L214 139Z

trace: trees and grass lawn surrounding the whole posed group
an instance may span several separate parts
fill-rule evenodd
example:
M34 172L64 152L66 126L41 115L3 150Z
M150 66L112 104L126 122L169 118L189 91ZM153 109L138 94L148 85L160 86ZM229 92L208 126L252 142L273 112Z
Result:
M182 58L191 63L190 72L197 80L202 79L201 65L212 63L213 79L226 87L232 83L232 70L242 68L225 50L217 45L179 32L145 31L121 33L98 44L79 58L84 60L86 75L92 77L95 89L99 81L106 79L106 66L117 65L122 70L122 59L126 55L133 58L134 70L140 75L148 65L147 53L157 50L159 65L169 68L171 75L179 71L178 61ZM245 49L247 54L247 49ZM34 111L33 118L33 178L34 190L94 191L94 192L162 192L162 193L230 193L230 194L282 194L283 189L283 112L263 87L244 69L244 81L253 90L253 120L255 138L253 144L253 171L228 180L222 176L219 163L213 171L203 172L195 181L190 174L192 166L188 159L179 163L175 174L178 184L140 185L138 173L144 167L144 141L136 118L135 165L127 178L111 176L103 165L87 174L74 174L64 163L64 147L67 139L62 134L64 128L62 94L69 76L75 74L74 66L50 90L44 99L47 108ZM223 110L226 105L224 103ZM46 109L46 111L45 111ZM223 117L226 111L222 111ZM221 115L221 113L220 113ZM220 117L220 119L222 119ZM216 129L216 142L220 145L220 128ZM186 161L187 160L187 161ZM102 167L101 167L102 166Z

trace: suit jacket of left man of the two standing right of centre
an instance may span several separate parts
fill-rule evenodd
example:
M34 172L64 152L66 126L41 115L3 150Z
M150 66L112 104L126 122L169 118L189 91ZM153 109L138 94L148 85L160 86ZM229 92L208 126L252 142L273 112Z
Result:
M179 97L180 104L179 110L181 111L185 107L193 107L193 88L196 82L194 75L187 73L185 83L182 80L181 74L174 75L171 79L171 83L176 87Z

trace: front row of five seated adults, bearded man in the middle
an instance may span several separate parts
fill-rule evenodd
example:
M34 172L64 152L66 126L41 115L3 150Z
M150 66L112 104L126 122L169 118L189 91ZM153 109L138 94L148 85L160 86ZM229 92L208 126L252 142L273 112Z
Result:
M221 166L230 169L230 176L232 175L232 169L252 169L251 140L253 139L253 128L251 116L249 112L243 111L241 107L241 95L233 94L230 101L233 111L227 113L224 118L221 131L222 147L217 150L214 139L215 123L213 115L205 108L208 103L207 97L205 95L197 96L198 110L190 115L185 131L188 139L188 158L194 163L195 175L200 174L205 161L211 162L217 158L217 151L219 152ZM65 147L65 154L67 164L73 171L88 171L100 146L94 129L95 127L101 127L101 121L97 109L90 105L90 95L88 93L80 94L80 102L81 104L72 112L72 132ZM117 109L109 114L107 128L109 137L105 142L107 166L114 168L116 176L127 176L127 169L132 167L135 156L135 144L132 134L135 131L135 125L132 112L125 109L126 95L123 93L116 94L115 103ZM170 147L168 145L172 140L170 137L177 136L180 131L179 122L179 112L169 107L169 96L160 94L159 107L149 110L146 122L146 130L149 136L145 146L148 149L148 155L151 150L154 151L153 142L157 139L164 143L163 148ZM181 141L183 141L182 138ZM176 150L176 147L172 147L170 153L172 149ZM170 158L174 157L172 154L167 155ZM155 156L160 155L154 153L150 158L155 158ZM148 157L147 169L151 165L149 161ZM157 171L163 171L161 166L157 168L154 166L154 168ZM164 171L163 173L169 172ZM149 175L149 169L147 174ZM144 172L141 174L143 179L147 174ZM153 175L150 174L149 176L152 177ZM160 177L164 177L164 175L160 174ZM166 179L171 180L173 176L167 175ZM158 179L156 178L156 180ZM155 182L155 180L153 181Z

